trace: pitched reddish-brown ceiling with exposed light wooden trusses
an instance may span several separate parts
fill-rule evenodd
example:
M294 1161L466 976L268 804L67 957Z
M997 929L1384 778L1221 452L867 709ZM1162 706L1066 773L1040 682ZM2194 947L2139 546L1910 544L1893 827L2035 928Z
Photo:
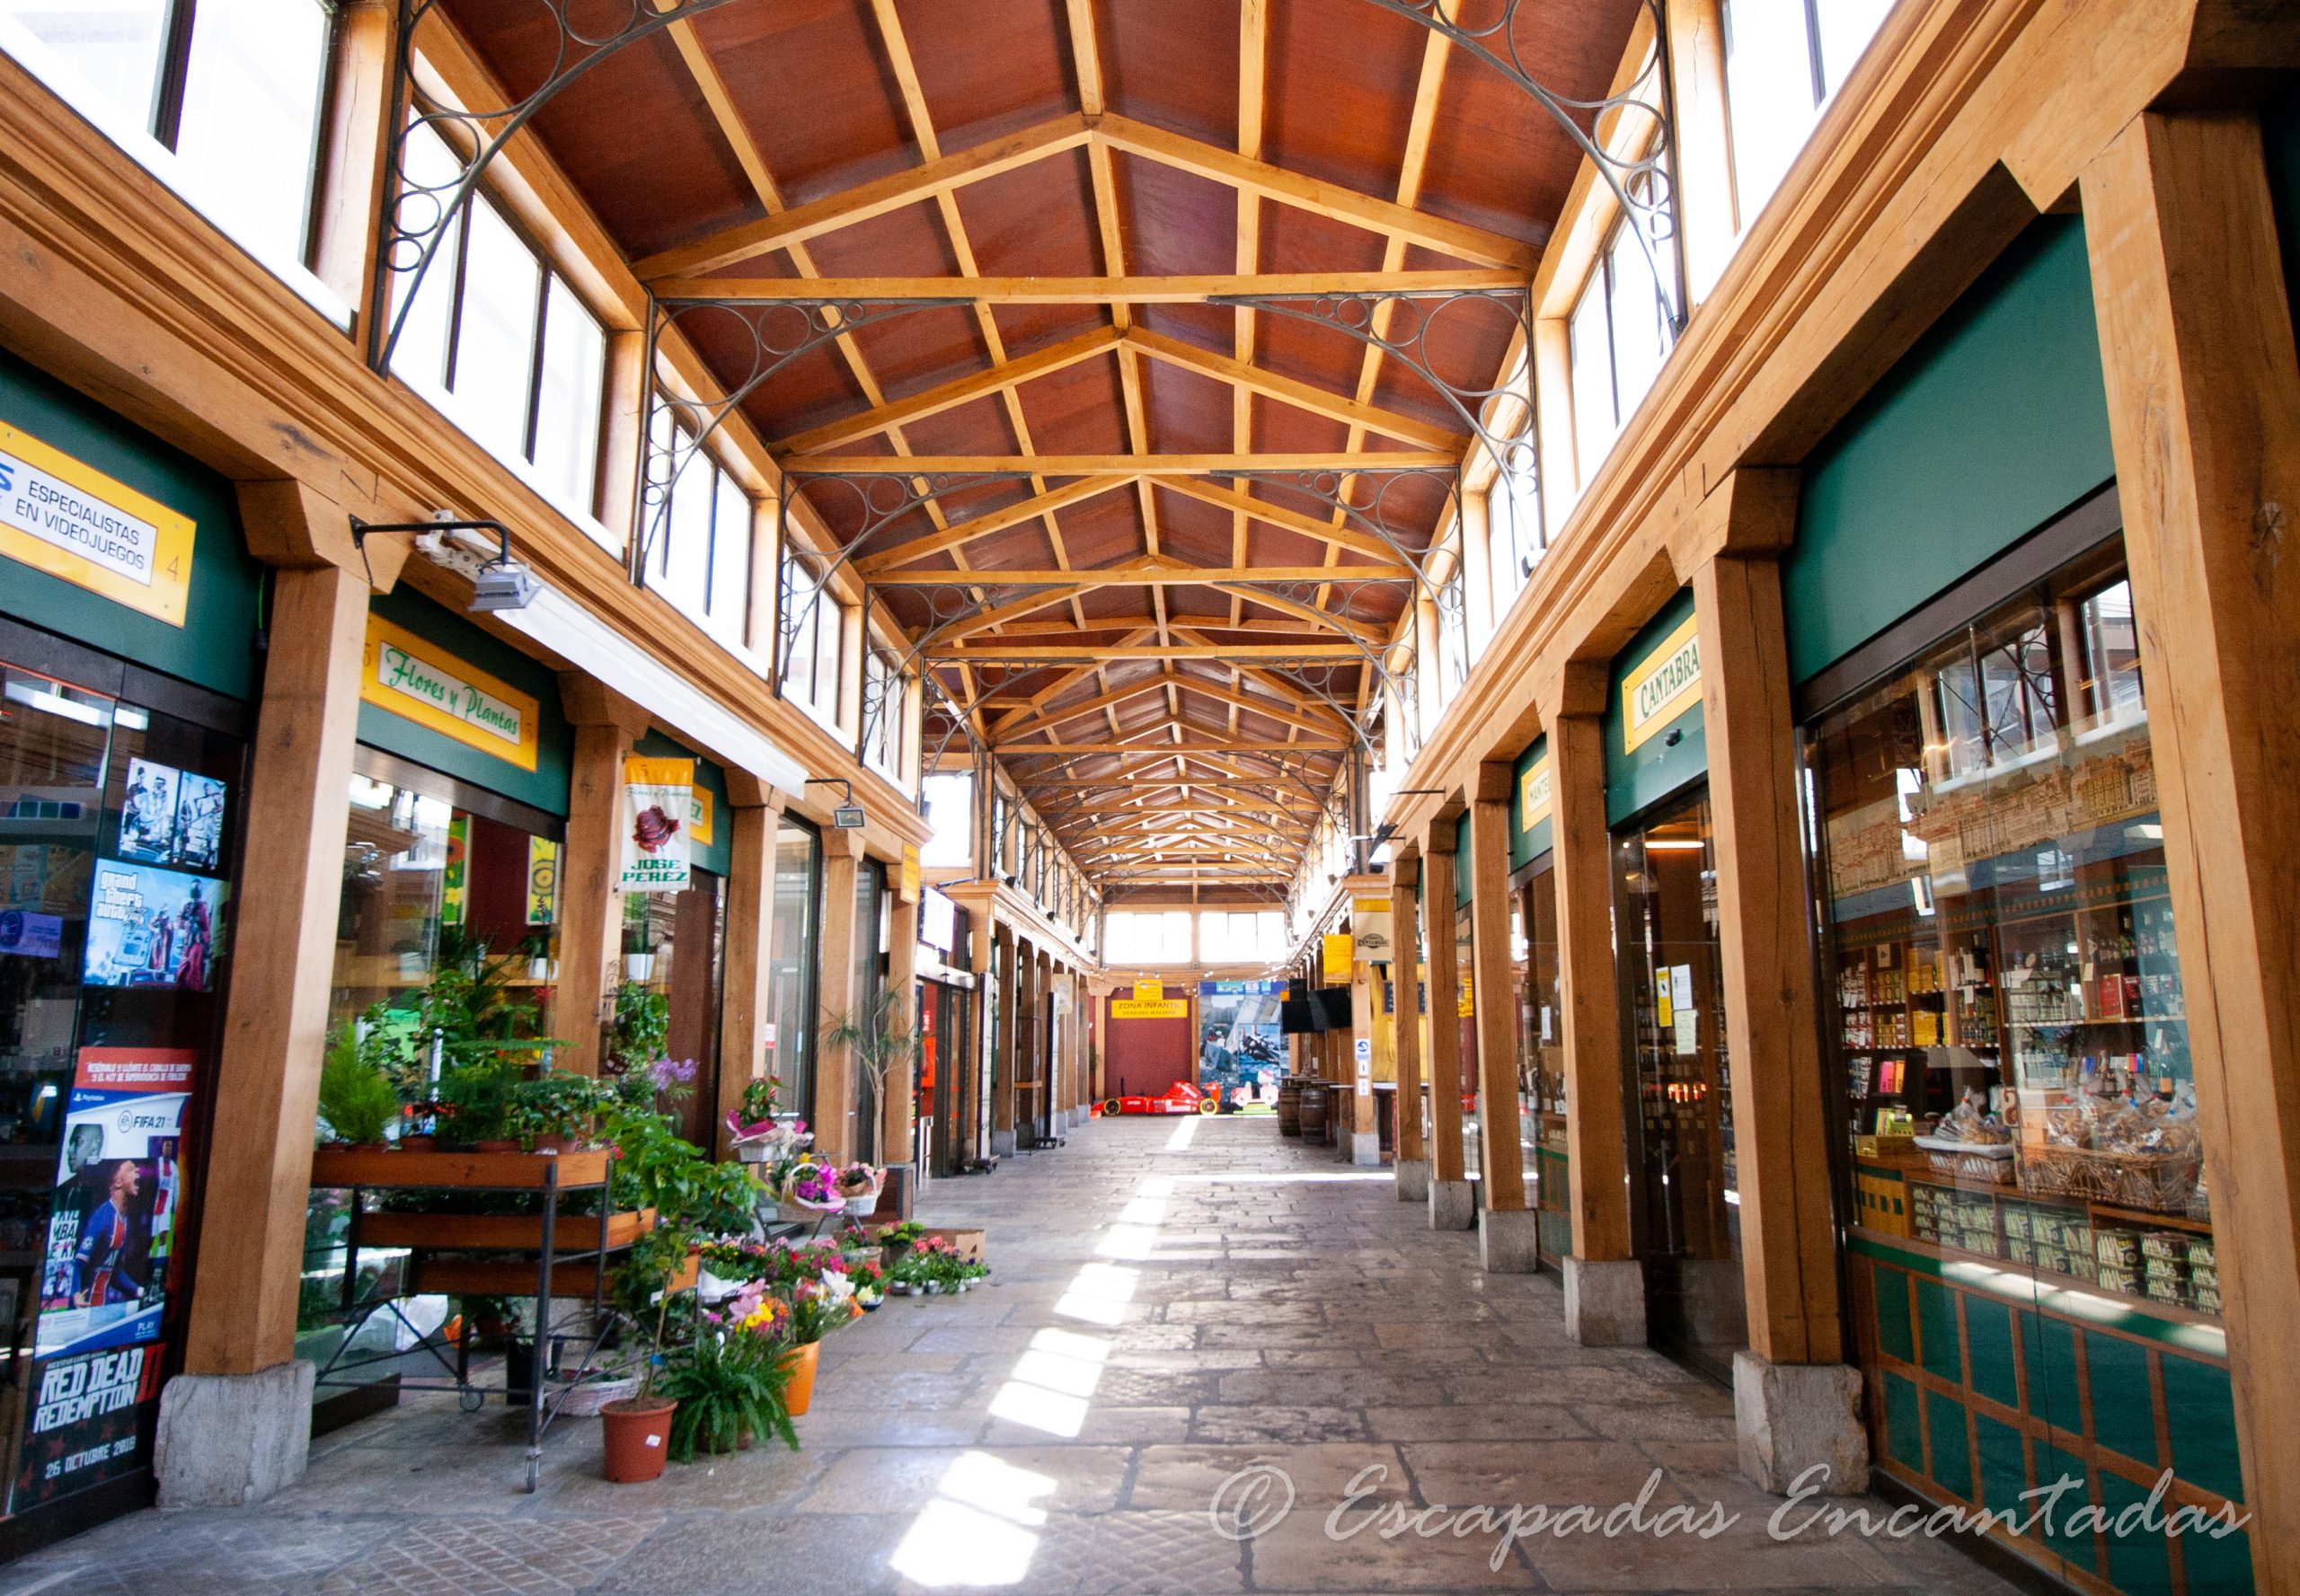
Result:
M1479 28L1504 0L1421 5ZM1640 0L1516 9L1527 69L1594 101ZM444 11L513 94L550 71L534 0ZM1316 494L1217 471L1451 467L1467 428L1341 329L1208 301L1523 285L1580 163L1564 129L1378 0L731 0L536 131L665 299L957 301L862 317L745 416L800 474L1010 469L853 550L931 632L931 715L994 747L1113 901L1283 888L1412 589L1373 582L1396 552ZM729 389L752 368L738 317L681 331ZM1486 389L1516 336L1465 301L1426 354ZM1368 481L1408 554L1442 531L1442 478L1327 478ZM835 538L865 527L851 481L800 485Z

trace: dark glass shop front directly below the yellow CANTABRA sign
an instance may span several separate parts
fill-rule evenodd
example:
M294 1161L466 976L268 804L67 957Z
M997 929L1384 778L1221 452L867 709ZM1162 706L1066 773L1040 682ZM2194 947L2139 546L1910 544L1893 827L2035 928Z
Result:
M1730 1380L1748 1313L1707 787L1615 830L1612 862L1651 1341Z

